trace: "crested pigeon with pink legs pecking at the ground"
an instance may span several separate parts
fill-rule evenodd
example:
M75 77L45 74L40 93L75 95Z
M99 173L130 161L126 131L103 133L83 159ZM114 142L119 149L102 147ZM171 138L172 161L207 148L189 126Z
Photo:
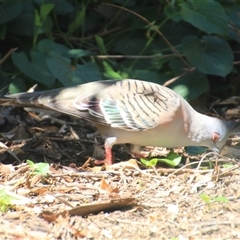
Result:
M54 110L94 123L105 139L104 163L113 163L112 146L206 146L221 149L240 126L195 111L173 90L134 79L103 80L67 88L17 93L2 105Z

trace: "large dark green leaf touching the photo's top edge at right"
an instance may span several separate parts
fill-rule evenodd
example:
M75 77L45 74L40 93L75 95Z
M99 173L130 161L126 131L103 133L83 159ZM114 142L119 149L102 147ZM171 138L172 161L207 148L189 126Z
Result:
M185 21L205 32L227 36L228 18L221 3L213 0L192 0L179 5Z

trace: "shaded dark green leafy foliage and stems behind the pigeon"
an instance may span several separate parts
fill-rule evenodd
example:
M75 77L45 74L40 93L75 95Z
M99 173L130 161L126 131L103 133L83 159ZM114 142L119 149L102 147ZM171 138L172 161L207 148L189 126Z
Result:
M239 1L0 0L2 92L100 79L240 94ZM235 62L234 62L235 61Z

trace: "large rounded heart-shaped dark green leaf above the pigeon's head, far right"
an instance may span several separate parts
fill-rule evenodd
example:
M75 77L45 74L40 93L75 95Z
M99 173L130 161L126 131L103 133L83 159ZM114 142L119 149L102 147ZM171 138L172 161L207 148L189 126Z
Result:
M182 46L188 62L205 74L225 77L233 68L233 52L225 40L190 36L183 39Z

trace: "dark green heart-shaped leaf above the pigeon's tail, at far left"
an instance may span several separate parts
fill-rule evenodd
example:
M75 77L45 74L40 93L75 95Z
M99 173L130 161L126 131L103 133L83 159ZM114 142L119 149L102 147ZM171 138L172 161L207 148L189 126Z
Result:
M28 77L45 86L51 87L55 82L55 77L49 71L46 64L46 55L39 51L31 51L32 61L27 59L25 53L14 52L12 54L13 63Z

